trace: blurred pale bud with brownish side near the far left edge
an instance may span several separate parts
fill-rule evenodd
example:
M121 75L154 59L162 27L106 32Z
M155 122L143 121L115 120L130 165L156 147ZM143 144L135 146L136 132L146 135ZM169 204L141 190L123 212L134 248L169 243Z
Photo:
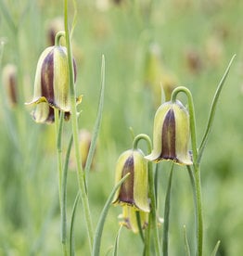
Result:
M9 104L15 106L17 100L17 69L15 65L7 64L3 69L3 84Z

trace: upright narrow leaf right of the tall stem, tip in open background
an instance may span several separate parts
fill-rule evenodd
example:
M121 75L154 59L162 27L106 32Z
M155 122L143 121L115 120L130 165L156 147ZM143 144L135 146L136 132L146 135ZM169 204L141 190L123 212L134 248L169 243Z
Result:
M96 150L96 142L97 142L97 136L101 125L101 119L102 119L102 113L103 113L103 106L104 106L104 95L105 95L105 57L102 56L102 63L101 63L101 89L100 89L100 96L99 96L99 104L98 104L98 110L97 110L97 116L96 116L96 123L94 126L93 134L92 134L92 140L85 164L85 172L89 172L90 166L95 154Z

